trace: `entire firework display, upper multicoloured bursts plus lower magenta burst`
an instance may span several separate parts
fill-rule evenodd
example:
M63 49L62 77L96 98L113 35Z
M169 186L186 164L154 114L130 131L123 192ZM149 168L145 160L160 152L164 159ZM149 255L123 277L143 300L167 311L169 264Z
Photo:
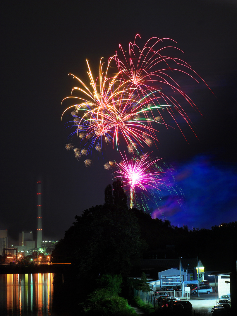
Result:
M184 105L194 109L196 106L181 90L178 78L179 75L187 76L196 82L201 78L183 60L171 57L173 50L182 53L174 46L177 44L175 41L153 37L140 47L138 40L140 36L136 35L127 51L119 45L119 51L107 63L101 58L99 73L95 77L86 60L88 84L70 74L79 86L72 88L71 96L63 100L73 101L63 115L70 111L71 121L67 124L71 130L69 139L76 139L79 144L74 145L70 140L65 148L73 149L78 160L84 156L86 167L93 164L88 159L93 151L99 156L106 147L120 153L121 147L126 148L132 155L131 159L124 154L122 161L106 162L104 169L111 172L115 167L119 169L115 171L119 174L117 177L130 187L130 208L139 207L142 203L145 211L150 212L151 208L158 208L157 190L162 188L163 197L165 191L172 196L180 196L180 192L168 188L172 182L175 187L172 177L166 183L164 177L161 179L164 171L158 165L160 158L153 159L148 152L139 153L158 141L157 132L161 125L178 128L183 134L178 123L182 120L191 128ZM152 206L150 194L155 203Z

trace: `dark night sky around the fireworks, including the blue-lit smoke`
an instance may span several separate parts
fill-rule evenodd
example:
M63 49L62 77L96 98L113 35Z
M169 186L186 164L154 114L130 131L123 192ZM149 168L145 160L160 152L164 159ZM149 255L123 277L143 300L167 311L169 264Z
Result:
M38 179L43 239L63 238L76 215L103 203L112 184L107 161L86 168L66 151L61 101L76 85L69 73L85 80L86 58L97 70L101 57L128 47L137 33L143 44L153 36L175 40L214 93L184 81L202 113L190 112L198 139L185 125L187 141L163 129L151 149L177 170L183 193L184 206L166 205L163 218L190 228L237 220L236 1L5 1L0 10L0 229L11 238L36 231ZM105 155L114 159L110 150Z

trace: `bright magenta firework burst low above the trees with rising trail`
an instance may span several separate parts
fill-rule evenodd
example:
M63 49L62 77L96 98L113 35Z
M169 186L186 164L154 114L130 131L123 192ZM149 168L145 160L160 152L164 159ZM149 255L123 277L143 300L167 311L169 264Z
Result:
M122 155L122 154L121 154ZM130 208L134 206L135 188L140 188L147 191L147 188L157 188L162 179L159 178L161 171L155 168L155 163L160 159L150 160L148 153L141 156L141 158L132 158L130 160L122 155L123 161L116 165L119 167L118 177L123 179L123 182L130 185Z

